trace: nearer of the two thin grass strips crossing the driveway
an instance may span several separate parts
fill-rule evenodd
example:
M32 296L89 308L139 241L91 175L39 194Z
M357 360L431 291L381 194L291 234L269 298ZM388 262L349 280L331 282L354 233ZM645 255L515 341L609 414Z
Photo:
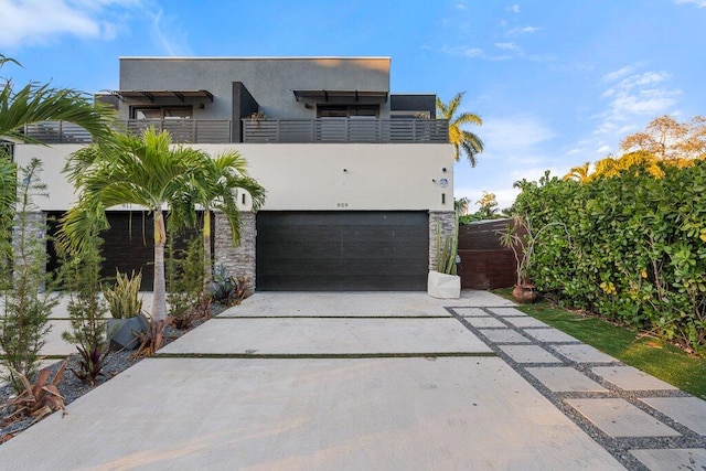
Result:
M496 357L494 352L422 353L156 353L148 358L323 360L323 358L441 358Z

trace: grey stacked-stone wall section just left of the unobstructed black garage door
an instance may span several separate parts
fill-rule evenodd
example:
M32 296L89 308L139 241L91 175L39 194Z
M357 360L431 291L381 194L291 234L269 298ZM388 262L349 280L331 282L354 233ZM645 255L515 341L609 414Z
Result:
M240 213L240 244L233 246L231 225L223 213L215 213L214 266L225 265L233 277L249 277L255 289L255 213Z

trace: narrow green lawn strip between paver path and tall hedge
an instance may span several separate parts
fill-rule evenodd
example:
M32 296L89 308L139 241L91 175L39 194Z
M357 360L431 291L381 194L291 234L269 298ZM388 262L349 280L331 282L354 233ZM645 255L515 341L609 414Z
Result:
M495 293L512 299L511 290ZM617 327L598 318L556 308L547 302L520 306L522 312L559 329L584 343L706 399L706 360L687 354L667 342Z

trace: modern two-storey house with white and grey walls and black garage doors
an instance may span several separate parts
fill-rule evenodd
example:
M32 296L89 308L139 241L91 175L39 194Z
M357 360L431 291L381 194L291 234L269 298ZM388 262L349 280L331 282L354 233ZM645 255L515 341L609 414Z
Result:
M388 57L122 57L119 89L97 96L127 132L153 126L212 154L238 150L267 190L232 247L215 214L215 263L256 290L425 290L437 228L453 222L453 150L435 95L389 90ZM63 122L29 126L49 147L14 146L44 162L42 215L76 201L61 169L90 137ZM103 234L107 274L142 268L151 280L150 224L114 207ZM147 232L147 233L143 233Z

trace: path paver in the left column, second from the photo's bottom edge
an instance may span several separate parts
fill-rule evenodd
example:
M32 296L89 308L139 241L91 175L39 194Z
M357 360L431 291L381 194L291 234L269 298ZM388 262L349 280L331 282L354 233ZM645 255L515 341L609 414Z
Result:
M673 428L624 399L567 399L566 402L610 437L680 436L680 432Z

